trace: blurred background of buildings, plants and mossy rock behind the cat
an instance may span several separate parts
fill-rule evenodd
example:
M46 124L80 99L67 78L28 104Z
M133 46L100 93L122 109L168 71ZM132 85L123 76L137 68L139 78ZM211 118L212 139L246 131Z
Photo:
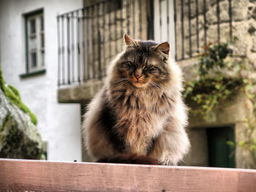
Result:
M184 71L182 164L255 168L255 31L255 0L0 0L0 158L90 161L82 115L126 33Z

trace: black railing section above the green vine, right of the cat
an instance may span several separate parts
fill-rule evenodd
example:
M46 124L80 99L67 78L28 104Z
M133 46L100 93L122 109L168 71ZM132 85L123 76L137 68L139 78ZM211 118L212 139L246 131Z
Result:
M225 4L222 10L220 3ZM194 57L209 42L232 40L231 0L173 0L173 7L176 61ZM221 12L225 17L220 18ZM228 32L222 33L221 28Z

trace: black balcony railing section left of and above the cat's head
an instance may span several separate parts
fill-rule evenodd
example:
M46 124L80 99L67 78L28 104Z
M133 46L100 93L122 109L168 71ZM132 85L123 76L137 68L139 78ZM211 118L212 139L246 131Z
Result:
M101 1L58 15L58 85L104 77L106 65L121 51L124 33L150 38L150 6L146 0Z

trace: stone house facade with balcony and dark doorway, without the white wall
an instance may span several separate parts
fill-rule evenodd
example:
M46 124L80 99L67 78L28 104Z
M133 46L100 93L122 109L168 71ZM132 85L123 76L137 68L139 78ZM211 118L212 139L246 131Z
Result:
M68 42L72 35L69 37L65 29L59 34L59 49L62 50L59 51L59 102L88 104L103 84L105 66L121 51L123 33L135 39L170 42L170 54L184 70L186 80L195 77L193 66L197 62L196 56L209 42L230 42L237 37L234 52L255 60L255 45L252 43L255 41L255 1L115 2L118 4L116 7L113 1L84 1L85 8L79 14L69 12L59 18L59 25L65 26L69 25L72 14L78 14L78 23L83 22L79 33L84 34L81 42L78 38L75 40L83 56L78 51L69 51L72 47ZM92 32L87 31L91 28ZM78 58L81 60L69 62L72 56L77 57L77 61ZM72 82L73 77L77 80ZM251 161L248 154L239 146L230 149L227 141L243 139L244 119L250 115L252 104L238 93L217 107L211 119L190 116L188 132L192 150L184 164L247 167ZM89 161L86 153L83 154L83 161Z

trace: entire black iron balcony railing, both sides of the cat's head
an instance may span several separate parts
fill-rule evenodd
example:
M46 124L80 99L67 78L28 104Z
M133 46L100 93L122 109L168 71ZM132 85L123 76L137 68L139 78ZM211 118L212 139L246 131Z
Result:
M58 15L57 24L58 85L71 85L102 79L106 66L121 51L124 33L169 41L177 61L195 57L208 42L231 39L232 4L231 0L103 0Z

